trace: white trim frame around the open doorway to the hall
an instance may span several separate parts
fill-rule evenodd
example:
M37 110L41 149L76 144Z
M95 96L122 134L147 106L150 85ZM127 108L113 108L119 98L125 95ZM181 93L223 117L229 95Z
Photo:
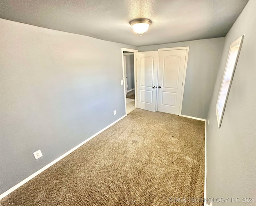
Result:
M122 69L123 69L123 83L124 83L124 105L125 105L125 114L127 115L127 108L126 108L126 92L125 92L125 76L124 76L124 51L133 52L133 59L134 59L134 93L135 93L135 108L137 108L137 76L136 76L136 49L128 49L128 48L121 48L122 53Z

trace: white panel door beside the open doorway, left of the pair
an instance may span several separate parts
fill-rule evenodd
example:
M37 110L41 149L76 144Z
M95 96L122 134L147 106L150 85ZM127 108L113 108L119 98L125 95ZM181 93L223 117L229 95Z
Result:
M137 107L156 112L158 51L136 53Z

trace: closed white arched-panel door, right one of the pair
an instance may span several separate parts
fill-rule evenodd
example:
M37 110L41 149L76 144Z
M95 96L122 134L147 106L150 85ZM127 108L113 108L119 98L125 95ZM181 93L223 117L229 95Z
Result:
M186 49L159 52L158 111L179 115Z

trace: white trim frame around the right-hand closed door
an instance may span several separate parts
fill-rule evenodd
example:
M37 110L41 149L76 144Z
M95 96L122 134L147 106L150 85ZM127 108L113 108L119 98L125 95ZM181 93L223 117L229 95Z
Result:
M183 95L184 95L184 88L185 88L185 80L186 80L186 72L187 72L187 66L188 66L188 51L189 47L173 47L173 48L162 48L158 49L158 69L157 69L157 88L158 88L158 81L159 81L159 60L160 60L160 51L168 51L168 50L180 50L180 49L186 49L186 59L185 59L185 68L184 68L184 75L183 75L183 84L182 84L182 92L181 92L181 98L180 98L180 111L178 115L181 115L182 111L182 102L183 102ZM158 97L158 91L156 92L156 96ZM158 111L158 98L156 98L156 111Z

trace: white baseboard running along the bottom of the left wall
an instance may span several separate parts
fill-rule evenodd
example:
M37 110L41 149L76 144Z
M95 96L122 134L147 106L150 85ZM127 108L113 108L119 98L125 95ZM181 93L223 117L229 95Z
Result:
M0 194L0 200L2 198L4 198L5 196L7 196L8 194L10 194L11 192L13 192L14 190L16 190L17 188L19 188L20 186L22 186L23 184L25 184L26 182L28 182L29 180L31 180L32 178L36 177L36 175L39 175L40 173L42 173L44 170L48 169L49 167L51 167L52 165L54 165L56 162L60 161L62 158L66 157L67 155L69 155L70 153L72 153L73 151L75 151L78 147L81 147L84 143L88 142L89 140L91 140L93 137L97 136L98 134L102 133L102 131L110 128L112 125L116 124L116 122L122 120L122 118L126 117L127 115L122 116L121 118L119 118L118 120L116 120L115 122L111 123L110 125L106 126L105 128L103 128L102 130L98 131L96 134L92 135L91 137L89 137L88 139L86 139L85 141L83 141L82 143L80 143L79 145L77 145L76 147L70 149L69 151L67 151L65 154L61 155L60 157L58 157L57 159L55 159L54 161L52 161L51 163L49 163L48 165L44 166L43 168L41 168L40 170L36 171L34 174L30 175L29 177L27 177L26 179L22 180L21 182L19 182L18 184L16 184L15 186L13 186L12 188L10 188L9 190L7 190L6 192Z

